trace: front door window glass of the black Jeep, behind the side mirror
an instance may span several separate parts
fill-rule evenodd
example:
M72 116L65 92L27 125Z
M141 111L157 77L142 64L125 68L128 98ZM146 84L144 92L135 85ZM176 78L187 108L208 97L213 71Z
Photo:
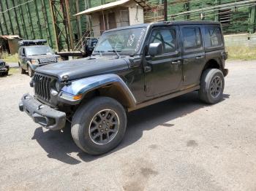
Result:
M150 43L162 43L163 53L176 51L176 31L174 29L157 29L151 34Z

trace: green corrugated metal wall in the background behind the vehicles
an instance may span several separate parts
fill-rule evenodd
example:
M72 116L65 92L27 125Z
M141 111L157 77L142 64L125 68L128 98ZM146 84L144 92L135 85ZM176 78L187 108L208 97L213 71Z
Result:
M48 39L48 43L56 49L56 28L53 27L50 1L56 0L1 0L0 34L18 34L24 39ZM75 7L76 1L78 7ZM72 17L77 12L75 8L80 12L86 7L96 7L112 1L115 0L68 0L74 44L86 32L86 16L80 17L78 24L77 18ZM162 6L162 0L147 0L147 2L153 7ZM168 20L220 20L225 34L254 33L255 5L256 1L252 0L167 0L167 14ZM56 8L61 12L61 8ZM56 20L59 20L57 41L59 50L67 50L68 41L61 36L61 32L64 32L61 19L57 14ZM162 20L161 14L156 20Z

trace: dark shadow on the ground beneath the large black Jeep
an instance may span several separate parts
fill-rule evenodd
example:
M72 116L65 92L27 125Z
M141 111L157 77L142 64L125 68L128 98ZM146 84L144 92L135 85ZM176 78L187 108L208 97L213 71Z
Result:
M229 96L225 94L222 101L229 98ZM70 133L70 124L67 124L63 132L52 130L43 131L42 128L37 128L34 131L32 139L37 140L40 146L45 149L45 152L48 152L48 157L60 160L63 163L75 165L80 163L80 160L90 162L91 160L97 160L100 157L110 155L110 153L116 152L118 149L127 147L138 141L143 135L144 130L151 130L157 127L157 125L175 128L175 124L171 122L173 119L184 117L206 106L210 107L210 105L200 102L197 98L197 93L193 92L131 112L128 114L127 133L124 136L124 140L116 149L100 156L88 155L75 145ZM74 152L78 152L80 160L70 155L70 153Z

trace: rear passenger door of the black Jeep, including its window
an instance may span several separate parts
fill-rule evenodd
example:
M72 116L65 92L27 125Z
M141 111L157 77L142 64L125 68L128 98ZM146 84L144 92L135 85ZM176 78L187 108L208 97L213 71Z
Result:
M181 26L183 42L184 86L192 87L200 82L200 73L206 63L200 26Z

